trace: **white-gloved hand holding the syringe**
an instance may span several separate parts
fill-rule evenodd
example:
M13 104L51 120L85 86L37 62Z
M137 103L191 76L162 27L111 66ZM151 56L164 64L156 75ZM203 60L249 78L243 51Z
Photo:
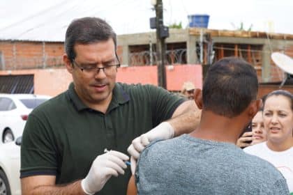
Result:
M114 150L96 157L91 164L87 177L82 180L84 193L95 194L104 187L111 176L117 177L119 173L123 175L123 169L127 167L124 161L128 159L127 155Z

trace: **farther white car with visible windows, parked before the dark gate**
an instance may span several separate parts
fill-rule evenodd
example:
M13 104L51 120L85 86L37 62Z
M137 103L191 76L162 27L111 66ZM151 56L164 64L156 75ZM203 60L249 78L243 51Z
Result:
M48 95L0 93L0 144L20 137L31 111Z

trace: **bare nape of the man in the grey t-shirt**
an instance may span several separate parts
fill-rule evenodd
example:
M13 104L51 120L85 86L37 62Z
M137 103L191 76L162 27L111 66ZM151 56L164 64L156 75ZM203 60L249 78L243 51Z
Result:
M200 125L190 136L199 139L236 143L243 127L243 117L227 118L211 111L202 111Z

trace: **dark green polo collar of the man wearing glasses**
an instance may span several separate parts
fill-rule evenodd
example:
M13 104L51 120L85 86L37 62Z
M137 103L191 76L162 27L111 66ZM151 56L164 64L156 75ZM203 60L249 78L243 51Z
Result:
M87 107L87 105L84 104L82 100L80 100L77 93L75 92L73 82L68 87L68 98L73 102L77 111L81 111L82 109L89 109L89 107ZM123 90L119 83L116 83L113 89L113 96L109 109L113 109L113 107L117 107L119 104L124 104L129 100L130 98L126 91Z

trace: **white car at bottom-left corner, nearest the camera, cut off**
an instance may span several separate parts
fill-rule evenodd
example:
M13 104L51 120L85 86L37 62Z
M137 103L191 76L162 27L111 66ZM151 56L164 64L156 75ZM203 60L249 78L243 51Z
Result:
M0 145L0 194L22 194L20 188L21 139L20 137L15 142Z

